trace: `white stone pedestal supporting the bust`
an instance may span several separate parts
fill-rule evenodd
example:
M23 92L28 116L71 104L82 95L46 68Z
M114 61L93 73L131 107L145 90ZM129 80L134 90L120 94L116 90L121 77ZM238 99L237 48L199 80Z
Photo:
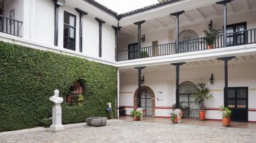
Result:
M62 125L62 111L60 104L53 104L53 118L52 125L48 129L49 132L58 132L64 130L64 125Z

